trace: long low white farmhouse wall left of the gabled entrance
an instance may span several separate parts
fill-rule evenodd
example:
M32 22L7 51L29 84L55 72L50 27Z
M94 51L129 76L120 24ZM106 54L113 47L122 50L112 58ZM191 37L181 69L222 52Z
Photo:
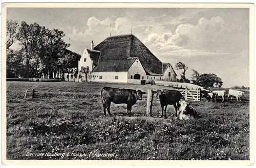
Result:
M127 72L93 72L91 81L127 83Z

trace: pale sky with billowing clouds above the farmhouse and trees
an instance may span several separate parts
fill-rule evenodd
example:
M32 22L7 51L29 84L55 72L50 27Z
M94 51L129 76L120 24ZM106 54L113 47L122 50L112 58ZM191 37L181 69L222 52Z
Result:
M187 78L195 69L219 76L223 88L249 87L249 9L7 8L7 19L59 29L79 54L92 40L132 31L162 62L186 64Z

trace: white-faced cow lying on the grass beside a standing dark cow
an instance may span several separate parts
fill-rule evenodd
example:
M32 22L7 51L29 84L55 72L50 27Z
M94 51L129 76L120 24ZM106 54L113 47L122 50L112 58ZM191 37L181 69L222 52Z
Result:
M178 119L188 120L189 118L199 118L197 111L194 107L185 101L180 102L180 108L178 110Z

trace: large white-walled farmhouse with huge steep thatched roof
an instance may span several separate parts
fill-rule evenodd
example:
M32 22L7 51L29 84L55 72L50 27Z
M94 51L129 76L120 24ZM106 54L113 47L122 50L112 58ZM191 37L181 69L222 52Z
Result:
M170 63L162 63L134 35L111 36L91 49L85 48L78 62L79 78L88 69L88 80L129 83L138 80L176 81L176 72Z

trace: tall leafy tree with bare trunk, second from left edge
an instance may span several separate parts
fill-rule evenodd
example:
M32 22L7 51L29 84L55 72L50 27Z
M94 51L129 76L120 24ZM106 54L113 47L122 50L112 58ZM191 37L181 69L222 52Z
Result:
M38 51L38 39L40 38L41 27L37 24L27 24L23 21L20 24L18 33L16 35L19 44L22 46L23 57L25 59L25 78L31 77L30 61Z

